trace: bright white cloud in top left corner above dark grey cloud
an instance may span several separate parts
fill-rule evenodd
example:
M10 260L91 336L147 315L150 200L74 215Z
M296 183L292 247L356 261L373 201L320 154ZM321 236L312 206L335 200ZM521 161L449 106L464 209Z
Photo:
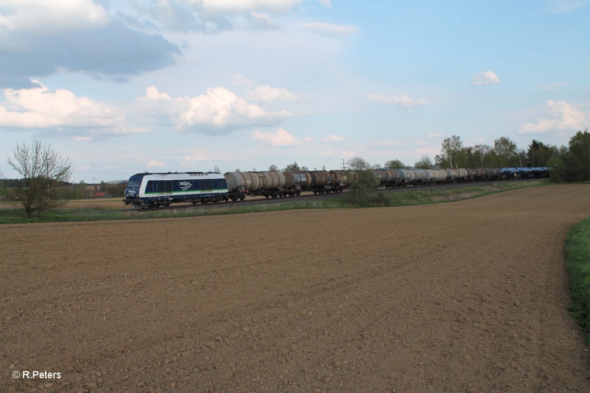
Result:
M3 0L0 29L63 32L100 27L109 22L106 10L91 0Z

